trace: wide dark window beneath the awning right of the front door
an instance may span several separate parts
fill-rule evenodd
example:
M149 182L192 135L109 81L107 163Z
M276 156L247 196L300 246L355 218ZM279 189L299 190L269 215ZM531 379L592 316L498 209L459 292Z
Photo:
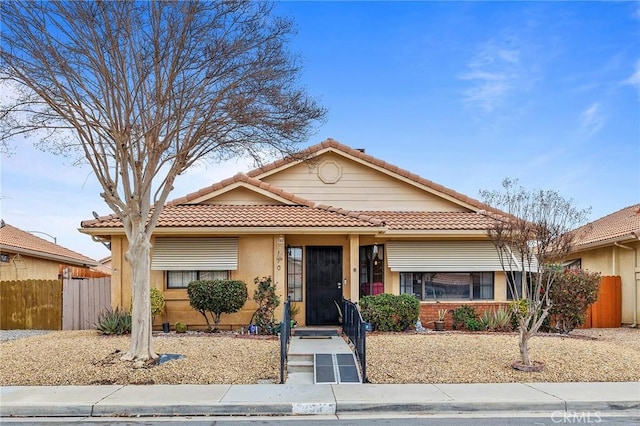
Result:
M400 293L420 300L492 300L493 272L401 272Z

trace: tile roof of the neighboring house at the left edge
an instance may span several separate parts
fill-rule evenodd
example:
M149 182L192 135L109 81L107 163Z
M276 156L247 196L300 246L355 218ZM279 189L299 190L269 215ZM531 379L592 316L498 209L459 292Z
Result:
M98 262L68 248L36 237L8 223L0 227L0 248L6 251L25 253L34 257L65 261L77 265L97 265Z

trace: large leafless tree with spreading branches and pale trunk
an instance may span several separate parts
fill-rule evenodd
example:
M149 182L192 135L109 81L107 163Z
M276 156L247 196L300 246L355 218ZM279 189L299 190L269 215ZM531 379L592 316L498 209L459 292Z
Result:
M44 131L47 149L77 149L91 165L129 241L133 323L123 358L155 358L150 241L176 176L203 157L291 154L324 118L298 87L286 51L292 23L250 1L0 7L0 77L19 89L0 111L0 141Z

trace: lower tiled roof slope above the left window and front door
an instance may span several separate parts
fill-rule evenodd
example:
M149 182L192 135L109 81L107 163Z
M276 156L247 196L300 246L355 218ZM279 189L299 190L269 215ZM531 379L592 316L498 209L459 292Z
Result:
M167 205L160 213L158 228L172 227L361 227L381 226L380 220L359 212L305 205ZM115 215L82 222L83 228L119 228Z

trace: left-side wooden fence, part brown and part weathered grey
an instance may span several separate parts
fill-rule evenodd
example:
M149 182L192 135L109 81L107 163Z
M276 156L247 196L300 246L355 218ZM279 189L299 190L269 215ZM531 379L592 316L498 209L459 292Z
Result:
M110 292L110 278L0 282L0 330L93 328Z

